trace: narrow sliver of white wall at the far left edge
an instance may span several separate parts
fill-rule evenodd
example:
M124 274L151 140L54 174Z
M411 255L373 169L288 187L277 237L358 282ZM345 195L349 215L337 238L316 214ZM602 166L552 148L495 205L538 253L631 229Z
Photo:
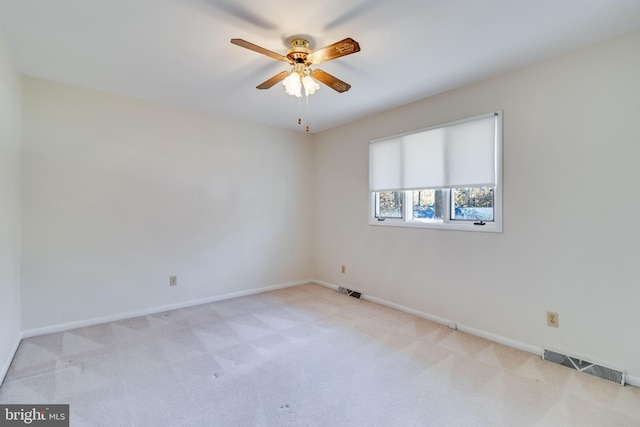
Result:
M0 32L0 382L20 334L20 82Z

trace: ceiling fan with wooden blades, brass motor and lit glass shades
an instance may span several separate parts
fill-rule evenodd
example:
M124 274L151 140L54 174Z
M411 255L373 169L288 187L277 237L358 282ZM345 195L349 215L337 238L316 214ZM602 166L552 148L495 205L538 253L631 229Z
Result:
M346 38L329 46L325 46L322 49L312 51L309 48L308 40L297 37L291 41L291 48L287 50L286 56L272 52L243 39L231 39L231 43L267 55L278 61L288 62L292 69L276 74L264 83L256 86L256 88L269 89L276 83L284 80L287 93L297 97L301 96L302 86L304 86L307 96L319 88L319 85L315 83L313 79L324 83L337 92L342 93L348 91L351 88L350 84L343 82L325 71L318 69L312 70L310 66L360 52L360 45L352 38Z

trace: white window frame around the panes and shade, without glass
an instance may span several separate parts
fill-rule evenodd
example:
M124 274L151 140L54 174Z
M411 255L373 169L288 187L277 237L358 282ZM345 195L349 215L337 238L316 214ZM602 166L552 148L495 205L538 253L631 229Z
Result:
M414 219L413 218L413 191L418 190L390 190L402 192L402 218L378 218L378 194L380 192L370 191L369 193L369 225L381 227L408 227L422 229L440 229L440 230L457 230L457 231L479 231L479 232L502 232L502 111L494 111L492 114L496 117L496 141L495 141L495 172L496 185L493 187L493 221L473 221L473 220L456 220L451 219L452 212L452 188L440 188L443 191L443 208L444 215L442 220ZM482 116L486 116L483 114ZM476 116L476 117L482 117ZM444 123L423 130L429 130L439 127L446 127L460 123L462 121L473 120L470 117L463 120L456 120ZM419 132L419 131L416 131ZM371 167L371 166L369 166ZM473 188L473 187L472 187Z

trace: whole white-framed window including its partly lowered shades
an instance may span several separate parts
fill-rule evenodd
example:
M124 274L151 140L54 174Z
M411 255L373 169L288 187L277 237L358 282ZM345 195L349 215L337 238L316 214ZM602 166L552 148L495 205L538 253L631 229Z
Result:
M369 145L370 224L502 231L502 112Z

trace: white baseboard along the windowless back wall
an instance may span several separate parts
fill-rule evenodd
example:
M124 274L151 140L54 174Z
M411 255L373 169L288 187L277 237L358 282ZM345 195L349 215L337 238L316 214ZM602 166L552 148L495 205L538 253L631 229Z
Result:
M247 295L259 294L262 292L274 291L276 289L290 288L292 286L304 285L311 283L311 280L303 280L299 282L281 283L278 285L265 286L262 288L254 288L246 291L231 292L223 295L216 295L197 300L184 301L176 304L168 304L159 307L150 307L138 311L130 311L127 313L117 313L109 316L94 317L91 319L77 320L74 322L59 323L57 325L45 326L42 328L28 329L22 332L22 338L30 338L39 335L52 334L56 332L65 332L71 329L83 328L85 326L98 325L100 323L115 322L117 320L130 319L132 317L146 316L148 314L162 313L164 311L177 310L180 308L193 307L195 305L208 304L211 302L222 301L231 298L244 297Z

